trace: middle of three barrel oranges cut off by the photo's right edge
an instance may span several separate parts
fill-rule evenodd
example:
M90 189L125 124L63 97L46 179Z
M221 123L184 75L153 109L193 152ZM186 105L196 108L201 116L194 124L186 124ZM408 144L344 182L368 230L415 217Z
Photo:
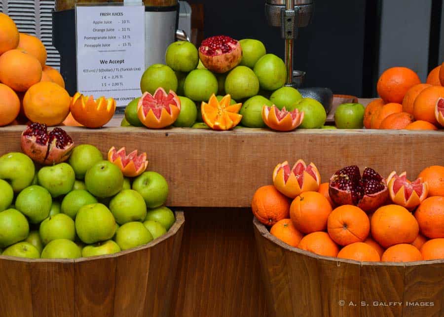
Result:
M444 197L425 199L415 212L421 233L430 239L444 238Z

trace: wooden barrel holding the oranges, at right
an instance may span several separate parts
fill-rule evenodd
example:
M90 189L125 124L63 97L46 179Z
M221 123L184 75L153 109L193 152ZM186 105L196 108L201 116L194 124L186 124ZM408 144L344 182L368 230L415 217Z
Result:
M444 260L387 264L291 247L253 221L269 317L444 316Z

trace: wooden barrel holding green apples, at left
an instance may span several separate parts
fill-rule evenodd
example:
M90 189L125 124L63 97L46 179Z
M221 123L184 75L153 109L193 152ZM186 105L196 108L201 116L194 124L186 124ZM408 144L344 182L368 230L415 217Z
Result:
M0 256L1 317L167 317L184 213L149 244L79 259Z

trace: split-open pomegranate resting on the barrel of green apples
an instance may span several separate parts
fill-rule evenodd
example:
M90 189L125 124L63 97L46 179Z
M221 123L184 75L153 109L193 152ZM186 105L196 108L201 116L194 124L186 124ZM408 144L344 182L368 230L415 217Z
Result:
M74 147L71 137L62 129L48 133L46 124L32 123L23 131L22 151L37 163L52 165L66 161Z

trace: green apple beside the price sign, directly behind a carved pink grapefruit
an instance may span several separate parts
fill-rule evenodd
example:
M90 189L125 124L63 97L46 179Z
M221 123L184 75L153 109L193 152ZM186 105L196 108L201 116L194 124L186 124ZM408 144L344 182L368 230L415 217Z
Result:
M177 77L170 67L163 64L154 64L148 67L140 80L142 93L148 91L154 94L157 88L162 87L167 93L177 90Z

